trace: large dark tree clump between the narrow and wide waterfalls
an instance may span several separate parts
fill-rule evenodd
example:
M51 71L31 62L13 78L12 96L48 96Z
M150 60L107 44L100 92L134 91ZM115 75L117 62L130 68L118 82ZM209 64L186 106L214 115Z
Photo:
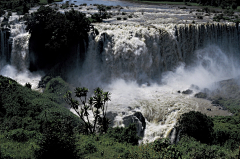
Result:
M36 52L34 65L37 69L47 69L69 59L69 53L74 53L70 50L79 44L84 46L91 28L86 14L73 9L63 14L41 6L25 19L26 30L31 33L30 46Z

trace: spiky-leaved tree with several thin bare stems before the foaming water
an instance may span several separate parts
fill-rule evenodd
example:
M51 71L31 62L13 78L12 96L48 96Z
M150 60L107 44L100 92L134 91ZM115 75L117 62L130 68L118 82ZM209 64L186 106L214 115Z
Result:
M109 119L106 117L106 104L110 101L110 93L103 92L103 90L98 87L94 90L94 95L89 98L88 103L87 93L87 88L77 87L75 89L75 96L80 99L81 103L79 104L77 100L72 98L70 91L66 93L65 100L84 122L87 134L95 134L96 132L106 133L108 125L110 124ZM94 117L93 124L89 120L89 111L91 111Z

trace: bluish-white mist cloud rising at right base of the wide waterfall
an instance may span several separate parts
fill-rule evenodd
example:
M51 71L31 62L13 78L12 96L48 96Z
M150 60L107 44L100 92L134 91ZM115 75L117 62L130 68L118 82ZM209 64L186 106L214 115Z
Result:
M175 71L165 72L162 82L179 90L193 84L199 89L215 89L215 82L240 75L240 65L218 46L211 45L195 52L194 64L182 63Z

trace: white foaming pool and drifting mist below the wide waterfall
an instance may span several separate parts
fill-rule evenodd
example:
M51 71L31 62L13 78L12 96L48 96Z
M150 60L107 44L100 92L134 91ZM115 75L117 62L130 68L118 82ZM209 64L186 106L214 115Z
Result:
M113 121L114 126L124 126L124 117L141 112L147 120L142 142L162 137L170 137L174 141L174 125L183 113L194 110L210 116L230 115L230 112L212 106L208 100L195 98L194 94L204 88L213 90L215 82L236 77L239 65L234 64L217 46L208 46L195 53L198 57L195 66L189 69L180 65L176 70L165 73L161 85L139 85L136 81L119 79L106 86L105 89L112 93L108 111L118 114ZM187 89L193 93L178 93Z

